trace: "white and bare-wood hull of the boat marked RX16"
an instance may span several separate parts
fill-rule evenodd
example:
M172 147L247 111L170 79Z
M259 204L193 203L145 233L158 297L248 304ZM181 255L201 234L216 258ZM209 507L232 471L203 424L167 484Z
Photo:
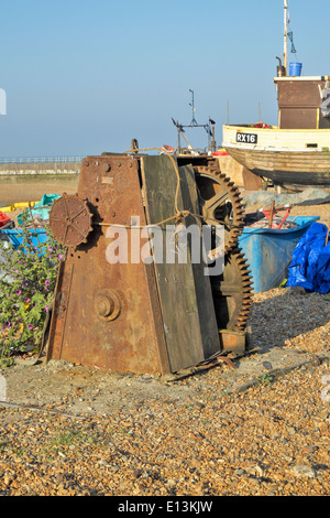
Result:
M222 145L241 165L276 184L330 186L330 130L224 126Z

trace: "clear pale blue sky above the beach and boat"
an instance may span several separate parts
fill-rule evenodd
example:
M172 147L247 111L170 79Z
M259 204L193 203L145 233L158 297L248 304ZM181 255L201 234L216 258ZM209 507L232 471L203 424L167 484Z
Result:
M330 75L329 0L289 0L304 75ZM283 0L3 0L0 157L177 143L172 117L276 123ZM293 56L292 56L293 57ZM204 130L187 133L205 147Z

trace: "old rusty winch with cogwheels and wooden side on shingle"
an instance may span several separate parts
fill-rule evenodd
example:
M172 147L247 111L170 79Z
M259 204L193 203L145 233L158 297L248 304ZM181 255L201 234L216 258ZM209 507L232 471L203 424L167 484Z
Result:
M153 260L141 260L133 250L135 236L157 226L166 251L165 227L175 234L178 225L193 223L224 227L219 274L206 276L191 253L184 262L157 261L155 244ZM55 201L50 226L67 255L58 272L47 359L166 374L223 352L244 353L252 278L238 248L243 207L216 158L136 149L87 157L77 194ZM114 238L128 260L109 261Z

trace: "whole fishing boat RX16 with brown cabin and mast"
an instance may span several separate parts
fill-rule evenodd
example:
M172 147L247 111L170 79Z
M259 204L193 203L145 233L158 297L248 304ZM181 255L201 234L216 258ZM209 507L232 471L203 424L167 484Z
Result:
M237 162L274 185L330 186L330 76L301 76L287 66L287 0L284 62L277 57L277 126L224 125L222 147ZM292 50L293 52L293 50Z

